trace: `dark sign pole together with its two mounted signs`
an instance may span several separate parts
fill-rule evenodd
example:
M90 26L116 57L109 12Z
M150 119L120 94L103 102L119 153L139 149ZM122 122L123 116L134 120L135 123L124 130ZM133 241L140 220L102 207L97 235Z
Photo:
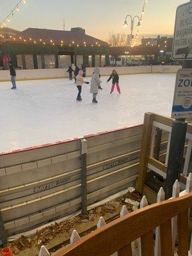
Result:
M192 116L192 1L177 7L175 32L173 37L172 59L184 61L183 68L177 72L173 97L172 136L166 175L166 199L172 196L176 179L180 179L181 163L188 122Z

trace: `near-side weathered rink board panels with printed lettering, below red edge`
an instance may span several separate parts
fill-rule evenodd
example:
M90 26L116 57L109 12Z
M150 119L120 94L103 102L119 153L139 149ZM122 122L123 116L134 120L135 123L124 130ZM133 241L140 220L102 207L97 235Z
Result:
M88 205L134 185L142 125L84 137ZM81 139L0 155L0 207L8 234L81 209Z

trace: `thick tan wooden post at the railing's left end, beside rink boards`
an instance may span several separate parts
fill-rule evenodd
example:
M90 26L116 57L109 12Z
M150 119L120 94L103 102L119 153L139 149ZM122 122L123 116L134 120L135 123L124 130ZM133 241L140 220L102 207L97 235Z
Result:
M141 141L141 156L140 156L140 166L138 175L138 186L137 189L140 193L143 193L143 187L145 184L145 179L147 175L147 162L150 152L150 137L152 134L154 114L145 113L144 124L143 124L143 135Z

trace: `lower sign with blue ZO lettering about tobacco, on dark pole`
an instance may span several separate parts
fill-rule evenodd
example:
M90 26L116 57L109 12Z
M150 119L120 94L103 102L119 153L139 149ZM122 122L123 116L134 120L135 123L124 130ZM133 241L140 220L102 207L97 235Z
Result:
M192 116L192 68L179 69L175 83L172 117L191 118Z

